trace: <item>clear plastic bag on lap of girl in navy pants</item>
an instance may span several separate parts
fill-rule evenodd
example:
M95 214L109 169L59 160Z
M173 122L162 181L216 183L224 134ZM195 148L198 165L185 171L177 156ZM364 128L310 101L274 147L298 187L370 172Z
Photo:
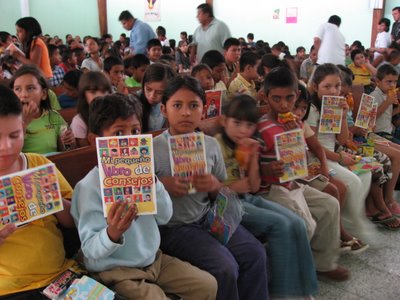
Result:
M226 245L242 221L243 214L243 205L238 195L228 187L223 187L207 213L207 230Z

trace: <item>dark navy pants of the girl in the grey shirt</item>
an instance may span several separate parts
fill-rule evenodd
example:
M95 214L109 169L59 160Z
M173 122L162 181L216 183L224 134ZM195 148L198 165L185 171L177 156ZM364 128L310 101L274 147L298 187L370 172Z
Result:
M224 246L197 223L160 227L163 252L213 275L217 299L268 299L267 256L263 245L239 225Z

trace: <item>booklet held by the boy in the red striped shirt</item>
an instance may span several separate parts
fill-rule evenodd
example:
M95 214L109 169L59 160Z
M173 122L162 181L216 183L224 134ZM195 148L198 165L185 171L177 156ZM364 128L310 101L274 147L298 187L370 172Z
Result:
M279 178L279 182L306 177L308 168L303 131L286 131L275 135L274 138L277 159L284 163L284 175Z

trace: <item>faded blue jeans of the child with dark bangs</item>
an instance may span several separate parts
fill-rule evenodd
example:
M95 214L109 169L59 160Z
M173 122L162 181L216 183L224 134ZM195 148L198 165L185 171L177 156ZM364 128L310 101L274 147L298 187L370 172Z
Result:
M318 282L303 219L277 203L251 194L245 195L243 207L241 224L267 241L271 296L315 295Z

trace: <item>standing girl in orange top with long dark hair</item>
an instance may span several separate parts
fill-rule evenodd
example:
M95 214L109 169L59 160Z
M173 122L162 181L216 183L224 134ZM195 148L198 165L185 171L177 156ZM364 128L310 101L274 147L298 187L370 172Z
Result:
M49 51L44 41L40 38L42 28L33 17L24 17L15 23L17 36L22 44L22 51L11 47L10 54L22 64L37 65L46 78L53 77L50 65Z

